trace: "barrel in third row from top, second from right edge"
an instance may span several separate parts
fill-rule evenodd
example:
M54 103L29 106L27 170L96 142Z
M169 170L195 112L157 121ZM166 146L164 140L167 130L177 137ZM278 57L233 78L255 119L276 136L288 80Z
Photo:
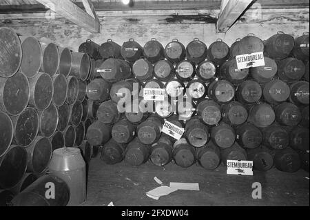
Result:
M289 99L290 91L287 83L280 79L275 79L264 85L262 94L268 103L277 104Z

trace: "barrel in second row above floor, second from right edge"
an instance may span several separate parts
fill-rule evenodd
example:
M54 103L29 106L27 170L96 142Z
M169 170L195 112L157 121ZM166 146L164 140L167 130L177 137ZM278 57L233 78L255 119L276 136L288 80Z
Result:
M273 124L262 129L262 143L272 149L285 149L289 146L289 132L285 128Z

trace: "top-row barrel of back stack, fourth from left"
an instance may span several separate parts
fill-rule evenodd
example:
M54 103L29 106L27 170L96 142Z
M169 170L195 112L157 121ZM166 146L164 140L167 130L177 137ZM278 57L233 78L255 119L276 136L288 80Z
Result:
M155 38L147 41L143 47L143 50L145 58L151 63L156 63L157 61L165 58L163 45L156 41Z

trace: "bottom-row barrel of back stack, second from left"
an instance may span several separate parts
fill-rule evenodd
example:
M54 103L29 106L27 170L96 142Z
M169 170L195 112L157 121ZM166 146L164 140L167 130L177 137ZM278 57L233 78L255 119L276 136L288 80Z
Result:
M125 152L125 161L131 166L140 166L149 159L150 146L147 146L136 137L128 143Z

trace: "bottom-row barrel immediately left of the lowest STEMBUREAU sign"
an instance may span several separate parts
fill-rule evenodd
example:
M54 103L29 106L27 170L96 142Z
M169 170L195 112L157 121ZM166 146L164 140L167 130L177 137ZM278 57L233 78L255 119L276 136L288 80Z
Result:
M215 170L220 165L220 148L209 141L203 148L197 148L197 160L207 170Z

